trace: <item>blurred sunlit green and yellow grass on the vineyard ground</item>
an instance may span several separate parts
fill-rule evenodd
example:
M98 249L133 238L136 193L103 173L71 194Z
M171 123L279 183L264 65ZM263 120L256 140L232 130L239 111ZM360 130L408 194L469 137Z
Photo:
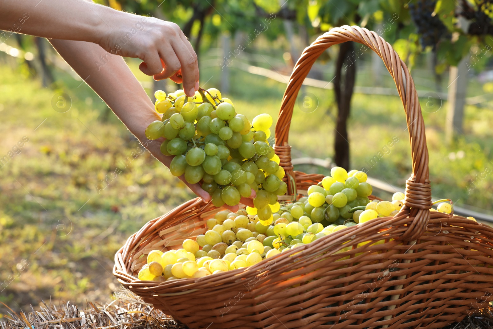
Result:
M269 113L276 121L285 85L231 71L225 96L237 111L250 119ZM219 86L220 75L218 69L205 68L201 81L210 78L206 88ZM24 136L29 140L0 168L0 301L15 310L40 299L77 303L111 298L118 286L111 274L113 255L126 238L193 196L149 153L142 153L85 84L77 88L80 82L66 73L57 73L57 79L63 90L42 88L21 68L0 65L0 158ZM61 91L72 99L65 113L51 107ZM333 93L310 87L303 92L312 93L318 107L306 113L295 106L289 135L293 157L332 157ZM445 108L423 111L433 195L491 211L493 175L478 177L493 169L493 112L468 106L464 135L454 146L445 146ZM397 97L354 95L352 168L366 167L370 176L403 186L411 173L408 141ZM370 167L379 151L383 157ZM134 158L133 152L141 155ZM116 168L122 173L114 175ZM0 307L0 316L5 311Z

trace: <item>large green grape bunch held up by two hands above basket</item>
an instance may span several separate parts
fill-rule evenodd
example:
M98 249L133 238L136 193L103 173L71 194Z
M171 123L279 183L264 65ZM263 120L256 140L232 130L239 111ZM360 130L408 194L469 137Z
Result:
M254 202L268 219L267 205L287 191L279 156L268 142L272 117L259 114L250 124L215 88L199 89L191 98L183 90L169 95L156 91L155 96L163 117L147 127L145 136L165 138L161 152L174 155L171 173L201 183L216 207L237 205L252 189L258 191Z

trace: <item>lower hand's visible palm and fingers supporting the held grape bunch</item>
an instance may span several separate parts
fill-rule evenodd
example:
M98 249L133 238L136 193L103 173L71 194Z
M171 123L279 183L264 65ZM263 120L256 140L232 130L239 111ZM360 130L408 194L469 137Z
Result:
M149 141L149 140L143 140L142 141L142 145L147 148L147 150L149 152L151 152L152 155L154 155L154 157L156 159L158 159L159 161L161 161L161 163L163 163L166 167L170 167L170 164L171 164L171 160L173 160L173 157L174 156L168 156L168 155L164 155L163 153L161 153L161 149L160 149L160 146L161 144L163 143L164 141L164 138L160 138L160 139L157 139L157 140L154 140L154 141ZM185 183L195 194L197 194L198 196L200 196L204 202L208 203L211 201L211 195L204 191L202 189L202 187L200 186L200 184L190 184L190 183L187 183L187 181L185 180L185 177L184 175L180 176L179 179L181 181L183 181L183 183ZM256 193L255 191L252 189L251 190L251 195L248 197L248 198L241 198L240 199L240 203L246 205L246 206L250 206L250 207L254 207L253 206L253 198L256 196ZM231 210L232 212L236 213L239 209L238 206L228 206L226 204L224 204L223 206L224 208L226 209L229 209Z

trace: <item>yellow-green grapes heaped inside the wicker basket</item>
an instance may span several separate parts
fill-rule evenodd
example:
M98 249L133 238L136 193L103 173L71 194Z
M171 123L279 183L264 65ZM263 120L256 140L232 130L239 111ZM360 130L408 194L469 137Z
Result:
M394 193L391 202L370 201L372 187L366 179L361 171L332 168L321 186L310 186L308 196L294 203L268 204L272 214L267 220L259 218L257 208L217 212L207 220L207 231L184 240L182 248L151 251L138 278L161 282L240 269L341 229L397 214L404 194ZM445 200L449 202L441 202ZM451 213L449 199L434 203L438 202L437 210L431 211Z

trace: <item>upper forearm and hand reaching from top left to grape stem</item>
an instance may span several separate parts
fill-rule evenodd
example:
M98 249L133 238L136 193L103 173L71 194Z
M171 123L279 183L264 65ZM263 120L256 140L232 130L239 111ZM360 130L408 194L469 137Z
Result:
M197 55L175 23L86 0L0 0L0 29L12 30L19 19L16 32L92 42L112 55L140 58L141 71L156 79L183 82L188 96L198 90Z

